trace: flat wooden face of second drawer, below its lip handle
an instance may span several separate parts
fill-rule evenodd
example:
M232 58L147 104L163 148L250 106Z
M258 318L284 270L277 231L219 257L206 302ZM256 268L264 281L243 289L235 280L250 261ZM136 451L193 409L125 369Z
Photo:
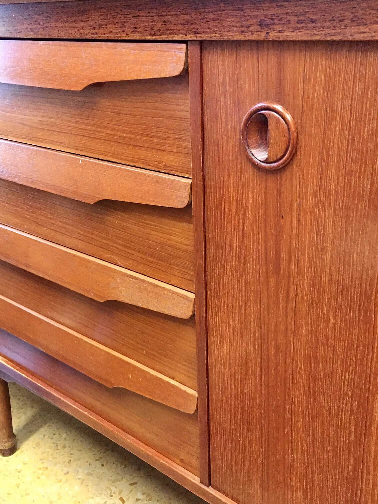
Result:
M88 205L0 179L0 222L194 291L190 206Z

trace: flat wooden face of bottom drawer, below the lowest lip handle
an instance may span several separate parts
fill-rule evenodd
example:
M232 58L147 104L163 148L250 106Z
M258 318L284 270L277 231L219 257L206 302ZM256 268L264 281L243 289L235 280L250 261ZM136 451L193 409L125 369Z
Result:
M48 400L60 400L57 405L63 409L62 403L76 403L74 411L69 412L94 428L100 427L100 431L101 424L107 424L105 435L117 432L132 436L198 475L196 413L182 413L128 390L109 389L6 331L0 331L0 367L12 377L17 369L33 384L43 384L51 391ZM82 415L78 415L78 409ZM93 417L98 419L96 424L91 422Z

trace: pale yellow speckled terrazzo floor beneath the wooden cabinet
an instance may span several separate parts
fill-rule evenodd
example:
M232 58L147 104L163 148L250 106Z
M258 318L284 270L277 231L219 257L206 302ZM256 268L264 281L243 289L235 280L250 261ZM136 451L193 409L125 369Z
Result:
M0 457L6 504L204 504L43 399L10 384L18 451Z

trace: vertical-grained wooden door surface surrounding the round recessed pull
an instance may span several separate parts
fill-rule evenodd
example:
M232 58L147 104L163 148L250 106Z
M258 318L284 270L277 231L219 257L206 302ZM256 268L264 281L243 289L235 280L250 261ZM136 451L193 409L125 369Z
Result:
M378 45L204 43L203 68L212 485L374 504ZM265 100L298 125L276 172L240 142Z

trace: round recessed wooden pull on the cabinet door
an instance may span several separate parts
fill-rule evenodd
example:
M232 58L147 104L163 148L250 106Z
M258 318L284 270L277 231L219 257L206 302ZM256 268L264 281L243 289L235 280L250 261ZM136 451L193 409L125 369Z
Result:
M285 166L297 147L294 119L277 103L252 107L243 119L241 135L251 161L267 170Z

